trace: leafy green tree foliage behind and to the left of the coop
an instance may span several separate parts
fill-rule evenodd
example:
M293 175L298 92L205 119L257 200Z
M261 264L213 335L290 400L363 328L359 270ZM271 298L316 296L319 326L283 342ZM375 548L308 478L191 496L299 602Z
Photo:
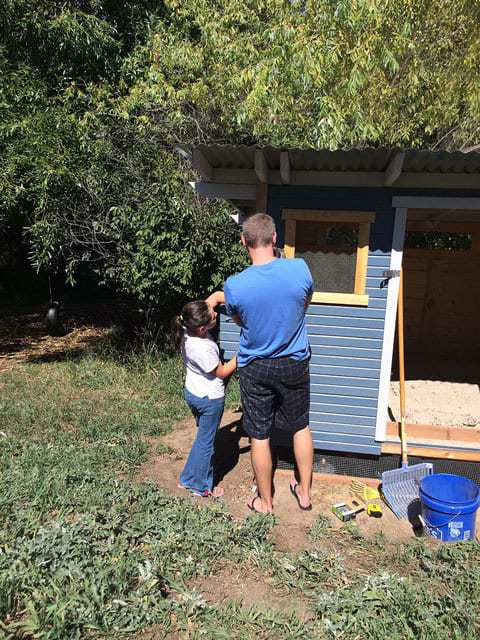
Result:
M470 0L7 0L0 224L72 281L203 295L244 255L176 144L475 146L479 25Z

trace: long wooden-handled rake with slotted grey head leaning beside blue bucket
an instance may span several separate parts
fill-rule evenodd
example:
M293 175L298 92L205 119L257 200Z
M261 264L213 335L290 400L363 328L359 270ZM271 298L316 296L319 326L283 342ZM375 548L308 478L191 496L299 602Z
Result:
M422 462L409 466L407 454L407 433L405 428L405 338L403 311L403 269L400 271L398 290L398 356L400 382L400 445L402 467L382 473L382 494L397 518L412 518L415 503L418 504L420 480L433 473L433 465ZM418 509L417 509L418 510Z

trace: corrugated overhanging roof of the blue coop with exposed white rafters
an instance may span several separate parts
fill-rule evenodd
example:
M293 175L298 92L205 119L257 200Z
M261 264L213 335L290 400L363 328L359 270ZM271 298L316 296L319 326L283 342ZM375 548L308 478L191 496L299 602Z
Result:
M480 189L480 153L399 148L335 150L201 144L178 148L205 196L255 199L260 183Z

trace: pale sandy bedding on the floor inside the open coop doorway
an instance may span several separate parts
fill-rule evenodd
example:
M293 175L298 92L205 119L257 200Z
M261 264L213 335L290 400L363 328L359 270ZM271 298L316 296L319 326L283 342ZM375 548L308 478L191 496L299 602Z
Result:
M452 427L480 426L478 384L445 380L407 380L405 388L407 422ZM398 422L398 382L391 383L389 406L393 421Z

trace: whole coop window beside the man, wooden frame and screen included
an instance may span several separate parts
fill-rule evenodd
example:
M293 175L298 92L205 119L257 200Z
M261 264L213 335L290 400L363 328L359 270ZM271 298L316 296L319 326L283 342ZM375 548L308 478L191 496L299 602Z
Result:
M368 304L365 294L370 225L360 211L285 209L285 256L303 258L314 282L312 302Z

